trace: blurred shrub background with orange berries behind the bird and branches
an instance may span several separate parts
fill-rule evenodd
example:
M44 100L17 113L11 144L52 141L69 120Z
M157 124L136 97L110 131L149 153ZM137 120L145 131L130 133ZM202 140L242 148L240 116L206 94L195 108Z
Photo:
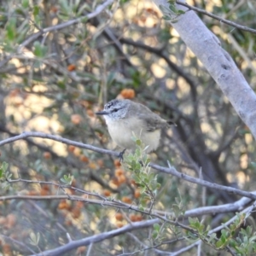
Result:
M177 126L163 131L151 160L212 183L255 190L255 143L218 84L187 49L151 1L114 1L111 8L90 20L46 32L26 44L45 27L90 14L104 1L2 1L0 7L0 139L23 131L42 131L76 142L119 151L111 142L104 119L95 112L113 98L143 103ZM243 26L256 27L256 3L236 0L187 1ZM256 84L255 36L200 15L236 61L241 73ZM200 42L199 42L200 44ZM246 99L245 99L246 100ZM93 151L41 138L27 138L0 148L1 162L9 163L12 178L58 183L73 175L73 186L137 204L140 191L119 160ZM155 208L170 211L176 197L186 209L236 201L235 195L158 175L161 187ZM14 183L0 187L3 195L61 195L56 187ZM73 193L68 191L67 193ZM204 195L204 196L202 196ZM137 212L79 201L0 202L0 233L28 247L42 250L112 230L147 218ZM208 217L220 224L228 215ZM31 233L40 233L38 247ZM138 231L140 239L147 234ZM172 239L172 234L168 235ZM3 255L29 251L7 238ZM117 255L122 247L136 251L131 236L119 236L94 247L90 255ZM127 246L128 245L128 246ZM166 250L182 247L166 245ZM73 255L85 255L80 247ZM211 248L206 252L211 253ZM71 255L71 254L69 254ZM154 255L154 254L148 254ZM184 254L185 255L185 254ZM188 254L191 255L191 254ZM209 254L210 255L210 254ZM211 255L215 255L213 252ZM217 255L217 254L216 254Z

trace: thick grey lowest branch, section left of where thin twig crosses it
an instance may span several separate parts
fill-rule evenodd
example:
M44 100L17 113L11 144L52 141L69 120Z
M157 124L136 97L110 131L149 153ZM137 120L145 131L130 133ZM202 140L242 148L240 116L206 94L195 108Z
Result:
M119 236L122 234L125 234L127 232L131 232L132 230L139 230L139 229L145 229L145 228L149 228L152 225L159 223L160 220L157 218L154 219L150 219L150 220L145 220L145 221L141 221L141 222L137 222L137 223L132 223L132 224L128 224L125 225L124 227L117 229L117 230L111 230L108 232L103 232L101 234L95 235L95 236L90 236L84 239L80 239L77 241L70 241L69 243L67 243L64 246L61 247L57 247L53 250L48 250L48 251L44 251L42 253L37 253L37 254L33 254L31 256L57 256L57 255L63 255L63 253L67 253L77 247L82 247L82 246L88 246L91 243L96 243L99 241L103 241L106 239L110 239L114 236Z

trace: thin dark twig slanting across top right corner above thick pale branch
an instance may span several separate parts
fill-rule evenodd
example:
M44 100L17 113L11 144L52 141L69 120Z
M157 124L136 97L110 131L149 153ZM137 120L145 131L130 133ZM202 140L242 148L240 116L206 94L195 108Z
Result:
M212 15L211 13L208 13L204 9L199 9L199 8L197 8L195 6L191 6L188 3L183 3L181 1L176 1L176 3L179 4L179 5L183 5L183 6L187 7L188 9L195 10L196 12L198 12L198 13L200 13L202 15L207 15L207 16L215 19L215 20L219 20L219 21L221 21L221 22L223 22L223 23L225 23L227 25L234 26L234 27L236 27L238 29L241 29L243 31L251 32L253 34L256 34L256 30L253 29L253 28L250 28L250 27L247 27L247 26L241 26L241 25L237 24L236 22L233 22L233 21L230 21L230 20L225 20L223 18L218 17L217 15Z

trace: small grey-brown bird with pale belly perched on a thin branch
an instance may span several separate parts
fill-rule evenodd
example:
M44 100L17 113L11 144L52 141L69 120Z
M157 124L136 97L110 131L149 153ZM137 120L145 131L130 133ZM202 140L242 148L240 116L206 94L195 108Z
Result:
M137 137L146 146L147 154L158 148L161 129L172 123L143 104L128 99L114 99L96 114L103 115L110 137L120 148L134 151L136 143L132 137Z

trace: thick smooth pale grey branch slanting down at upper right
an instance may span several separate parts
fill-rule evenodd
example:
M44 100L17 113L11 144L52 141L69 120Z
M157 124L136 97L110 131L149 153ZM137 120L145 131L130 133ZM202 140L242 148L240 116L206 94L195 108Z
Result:
M166 10L165 15L172 19L167 0L154 0L154 3ZM185 11L188 9L181 6ZM219 40L207 29L194 11L187 11L176 17L176 22L170 21L184 43L193 51L204 67L218 83L224 95L227 96L236 113L248 126L256 139L256 96L246 79L236 67L235 61L220 46Z

